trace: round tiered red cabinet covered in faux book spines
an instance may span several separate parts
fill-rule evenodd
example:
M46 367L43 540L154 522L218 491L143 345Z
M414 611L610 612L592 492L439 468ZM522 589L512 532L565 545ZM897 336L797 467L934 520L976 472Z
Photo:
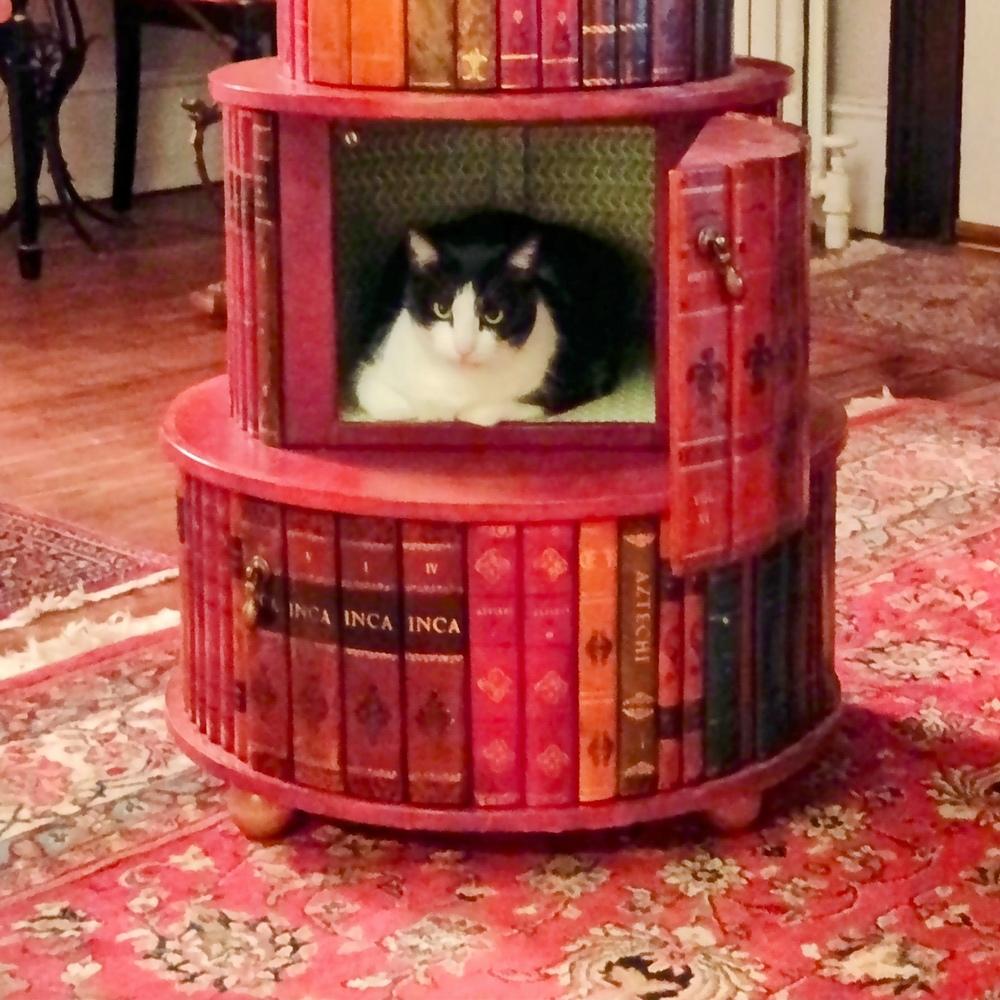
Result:
M286 3L279 58L212 77L228 378L164 430L185 622L171 727L251 835L295 810L452 831L750 823L839 706L845 424L808 388L806 140L773 117L789 73L732 64L730 5L706 0L671 36L683 82L658 82L655 19L639 70L620 47L595 70L581 30L562 89L544 52L523 75L523 37L507 77L518 0L499 0L486 84L429 87L406 30L453 0L372 2L403 18L384 86L352 82L349 58L343 85L309 82L337 0ZM539 44L572 5L599 7L532 7ZM350 374L387 253L482 206L617 243L644 357L559 419L365 420Z

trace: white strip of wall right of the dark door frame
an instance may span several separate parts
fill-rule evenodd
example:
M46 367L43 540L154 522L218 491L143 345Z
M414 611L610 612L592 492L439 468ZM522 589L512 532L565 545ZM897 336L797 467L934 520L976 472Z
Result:
M968 0L959 218L1000 227L1000 3Z

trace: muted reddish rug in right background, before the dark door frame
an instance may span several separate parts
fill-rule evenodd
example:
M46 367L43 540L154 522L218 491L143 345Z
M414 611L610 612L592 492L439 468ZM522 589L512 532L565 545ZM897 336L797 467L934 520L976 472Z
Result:
M814 269L817 337L1000 375L1000 255L907 248Z

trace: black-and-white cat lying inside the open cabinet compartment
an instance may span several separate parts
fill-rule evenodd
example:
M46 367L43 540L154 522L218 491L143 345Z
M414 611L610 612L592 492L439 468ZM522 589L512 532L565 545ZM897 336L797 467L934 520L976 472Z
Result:
M358 403L379 420L488 427L598 399L639 340L634 286L614 247L524 215L411 230L386 268Z

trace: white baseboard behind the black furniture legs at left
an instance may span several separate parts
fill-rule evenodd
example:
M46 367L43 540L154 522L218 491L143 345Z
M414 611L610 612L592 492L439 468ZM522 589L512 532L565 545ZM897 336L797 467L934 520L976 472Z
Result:
M208 97L202 73L169 73L152 70L143 74L139 109L139 141L136 155L136 191L186 187L198 183L191 150L191 125L181 108L186 97ZM7 119L6 96L0 102L0 120ZM63 108L63 148L73 179L88 198L106 198L111 193L114 161L115 86L113 76L84 78ZM0 137L3 133L0 133ZM206 160L212 176L221 177L222 140L219 128L209 130ZM0 142L0 192L7 198L14 191L10 140ZM55 200L47 176L40 189L46 202ZM0 204L0 210L5 207Z

